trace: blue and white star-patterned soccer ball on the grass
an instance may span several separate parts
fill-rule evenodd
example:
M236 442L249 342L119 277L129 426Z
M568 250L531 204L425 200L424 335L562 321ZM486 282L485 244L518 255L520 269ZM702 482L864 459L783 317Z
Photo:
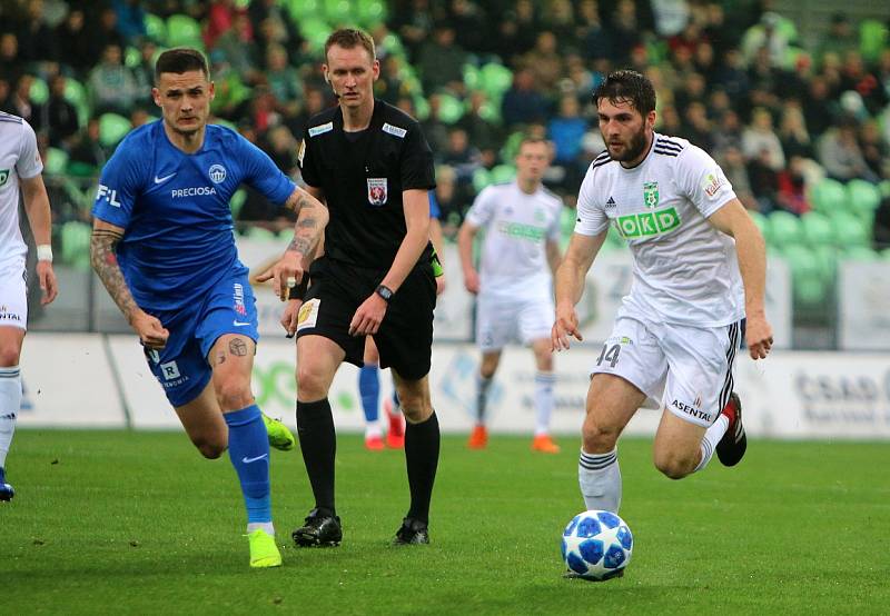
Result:
M633 535L617 515L592 509L576 515L565 527L562 552L573 577L609 579L631 562Z

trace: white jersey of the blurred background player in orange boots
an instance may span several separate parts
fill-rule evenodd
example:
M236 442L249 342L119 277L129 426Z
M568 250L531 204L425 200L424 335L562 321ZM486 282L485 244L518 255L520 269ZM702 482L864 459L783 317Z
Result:
M466 219L485 228L479 260L481 294L505 298L553 296L546 242L560 241L562 201L540 187L532 195L512 181L488 186Z

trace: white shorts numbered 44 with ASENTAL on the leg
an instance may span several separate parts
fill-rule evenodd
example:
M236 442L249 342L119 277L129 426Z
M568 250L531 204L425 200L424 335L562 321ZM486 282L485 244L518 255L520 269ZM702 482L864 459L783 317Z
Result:
M691 424L708 427L732 393L741 322L692 327L619 317L591 374L620 376Z

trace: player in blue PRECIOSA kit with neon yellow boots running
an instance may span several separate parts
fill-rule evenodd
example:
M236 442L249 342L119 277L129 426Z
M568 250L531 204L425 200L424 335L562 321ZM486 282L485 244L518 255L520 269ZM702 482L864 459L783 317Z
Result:
M301 278L294 250L317 242L326 210L246 139L207 125L214 83L200 52L161 53L152 97L162 120L130 132L102 170L92 267L191 441L207 458L228 448L247 507L250 566L276 567L269 441L273 429L284 448L294 439L264 420L250 390L257 312L229 199L248 183L299 210L294 241L273 270L279 290Z

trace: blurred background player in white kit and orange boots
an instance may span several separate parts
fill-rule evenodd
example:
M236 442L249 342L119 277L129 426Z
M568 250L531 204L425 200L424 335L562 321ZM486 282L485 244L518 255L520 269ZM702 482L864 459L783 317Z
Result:
M535 374L535 436L532 449L556 454L550 436L553 411L553 278L560 265L560 212L563 203L541 183L550 163L550 147L526 138L516 155L516 179L478 193L457 236L464 284L478 295L476 344L482 349L477 376L476 426L467 446L482 449L488 390L505 345L532 347ZM473 238L485 229L479 270L473 267Z

